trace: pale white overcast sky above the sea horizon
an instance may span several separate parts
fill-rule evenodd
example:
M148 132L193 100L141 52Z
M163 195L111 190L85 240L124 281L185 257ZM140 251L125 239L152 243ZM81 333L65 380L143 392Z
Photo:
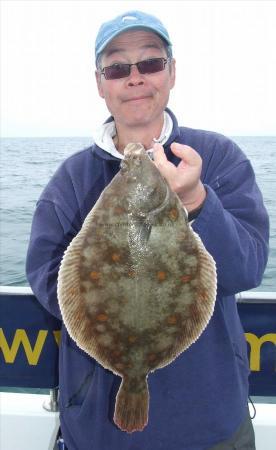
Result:
M93 136L109 116L95 83L102 22L161 19L176 58L180 125L276 135L276 1L0 0L1 136Z

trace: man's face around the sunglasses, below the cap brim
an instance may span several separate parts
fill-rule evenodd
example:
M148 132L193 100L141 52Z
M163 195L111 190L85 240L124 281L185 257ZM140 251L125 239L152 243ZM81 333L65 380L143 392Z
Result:
M133 64L150 58L167 58L162 40L148 31L124 32L106 47L101 68L115 63ZM98 91L117 124L124 127L150 126L158 123L168 103L175 82L175 61L153 74L140 74L131 67L128 77L106 80L96 72Z

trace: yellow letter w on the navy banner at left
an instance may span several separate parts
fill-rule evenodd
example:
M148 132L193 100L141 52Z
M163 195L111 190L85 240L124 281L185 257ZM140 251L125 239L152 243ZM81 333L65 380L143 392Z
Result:
M3 352L5 362L10 364L14 363L14 360L18 353L19 346L20 344L22 344L25 350L28 363L31 366L35 366L39 360L41 350L44 345L47 334L48 334L47 330L40 330L34 348L32 348L26 331L22 329L17 329L12 344L9 347L3 329L0 328L0 349Z

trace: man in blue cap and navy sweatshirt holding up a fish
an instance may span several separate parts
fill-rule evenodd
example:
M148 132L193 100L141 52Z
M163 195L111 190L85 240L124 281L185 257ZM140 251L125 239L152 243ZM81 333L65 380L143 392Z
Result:
M122 432L113 422L120 379L62 329L61 432L70 450L254 449L248 361L234 295L257 286L268 254L268 217L250 162L222 135L179 127L167 103L175 60L167 30L131 11L102 25L96 80L111 117L91 148L68 158L42 193L33 219L27 274L38 300L61 318L61 258L129 142L153 148L193 229L217 264L213 317L198 341L149 376L149 423Z

